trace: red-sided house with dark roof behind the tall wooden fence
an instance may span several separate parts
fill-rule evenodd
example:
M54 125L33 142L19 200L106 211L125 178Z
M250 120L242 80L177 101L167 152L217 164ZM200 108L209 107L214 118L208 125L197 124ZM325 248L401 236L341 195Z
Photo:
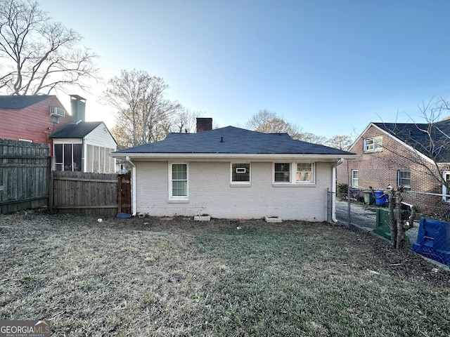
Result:
M0 138L52 144L49 135L70 123L55 95L0 95Z

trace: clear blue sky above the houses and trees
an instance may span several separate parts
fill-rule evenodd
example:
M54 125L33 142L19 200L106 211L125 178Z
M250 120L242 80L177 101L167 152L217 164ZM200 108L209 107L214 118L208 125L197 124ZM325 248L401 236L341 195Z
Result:
M146 70L219 127L268 109L304 132L354 135L421 122L418 105L450 98L447 0L37 1L84 36L105 79ZM88 119L112 126L110 112L88 97Z

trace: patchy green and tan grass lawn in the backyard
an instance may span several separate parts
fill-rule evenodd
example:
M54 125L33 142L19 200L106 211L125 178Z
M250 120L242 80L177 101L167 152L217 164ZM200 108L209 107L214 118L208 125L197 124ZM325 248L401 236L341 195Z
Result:
M325 223L18 213L0 216L0 256L0 319L52 336L450 331L450 272Z

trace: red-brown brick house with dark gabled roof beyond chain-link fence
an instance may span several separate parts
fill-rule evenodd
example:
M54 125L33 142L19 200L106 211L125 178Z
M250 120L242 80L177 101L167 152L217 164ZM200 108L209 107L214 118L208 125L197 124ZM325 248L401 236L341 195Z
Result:
M338 166L337 181L359 190L404 185L411 191L446 194L442 183L432 177L450 178L446 135L450 135L450 120L435 124L371 123L349 148L360 157L345 159ZM436 200L425 194L405 194L405 201L416 205L436 204Z

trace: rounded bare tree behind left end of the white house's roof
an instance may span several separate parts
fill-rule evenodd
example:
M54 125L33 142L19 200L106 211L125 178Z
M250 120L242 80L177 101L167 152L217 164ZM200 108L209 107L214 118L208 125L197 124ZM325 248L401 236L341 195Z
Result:
M160 77L143 70L122 70L108 81L103 101L117 111L113 135L119 146L155 142L167 136L181 105L165 98L169 88Z

